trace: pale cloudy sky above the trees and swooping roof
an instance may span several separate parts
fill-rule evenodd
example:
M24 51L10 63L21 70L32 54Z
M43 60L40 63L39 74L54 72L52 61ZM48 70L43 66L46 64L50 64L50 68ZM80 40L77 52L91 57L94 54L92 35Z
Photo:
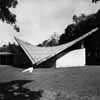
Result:
M0 45L14 41L13 35L37 44L54 32L63 33L73 14L89 14L96 12L100 3L92 4L92 0L19 0L14 12L17 14L20 33L16 33L10 25L0 22Z

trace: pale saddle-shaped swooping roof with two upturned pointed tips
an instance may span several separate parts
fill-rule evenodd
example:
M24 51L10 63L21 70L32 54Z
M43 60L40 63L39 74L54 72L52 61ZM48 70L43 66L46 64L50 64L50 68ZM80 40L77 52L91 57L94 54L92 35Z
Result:
M83 36L69 42L63 45L54 46L54 47L39 47L29 44L28 42L24 42L18 38L15 37L15 40L17 43L22 47L22 49L25 51L29 59L32 61L32 64L40 64L49 58L57 55L58 53L62 52L63 50L71 47L72 45L76 44L77 42L83 40L87 36L91 35L98 29L95 28L92 31L84 34Z

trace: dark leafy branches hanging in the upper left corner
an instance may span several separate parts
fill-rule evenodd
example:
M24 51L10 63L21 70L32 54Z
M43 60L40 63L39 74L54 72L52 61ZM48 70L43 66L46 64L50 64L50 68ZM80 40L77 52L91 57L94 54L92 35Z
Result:
M17 0L0 0L0 20L13 26L19 32L20 29L16 25L16 15L11 12L11 8L16 8Z

